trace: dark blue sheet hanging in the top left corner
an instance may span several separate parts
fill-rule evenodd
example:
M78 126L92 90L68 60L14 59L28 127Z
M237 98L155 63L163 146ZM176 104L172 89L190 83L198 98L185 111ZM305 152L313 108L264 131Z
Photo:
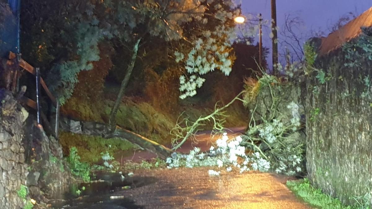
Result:
M8 4L6 11L0 11L3 15L3 22L0 23L0 57L6 57L9 51L17 53L19 45L20 0L8 0Z

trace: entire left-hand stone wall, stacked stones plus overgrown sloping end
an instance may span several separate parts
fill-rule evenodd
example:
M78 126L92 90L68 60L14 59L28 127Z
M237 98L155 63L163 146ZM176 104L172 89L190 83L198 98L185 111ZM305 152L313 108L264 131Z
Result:
M0 101L0 209L31 206L30 197L46 208L72 180L62 148L10 91L0 89ZM26 197L20 197L21 187Z

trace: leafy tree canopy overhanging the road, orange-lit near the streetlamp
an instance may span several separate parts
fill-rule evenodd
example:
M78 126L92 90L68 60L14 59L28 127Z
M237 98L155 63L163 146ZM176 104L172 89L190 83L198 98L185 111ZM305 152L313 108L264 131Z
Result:
M200 75L215 69L228 75L234 61L233 18L239 10L232 0L25 0L24 4L24 54L36 51L31 58L39 65L53 63L47 82L62 103L72 95L77 74L99 60L97 45L103 39L131 50L154 36L168 42L170 56L185 72L180 77L182 99L196 94L204 82Z

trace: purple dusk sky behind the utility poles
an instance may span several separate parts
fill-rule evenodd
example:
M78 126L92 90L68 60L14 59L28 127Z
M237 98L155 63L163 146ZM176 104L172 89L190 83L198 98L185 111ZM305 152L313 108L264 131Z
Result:
M236 0L241 3L243 14L262 13L263 19L271 19L270 0ZM323 31L328 35L331 26L348 12L353 12L356 16L372 7L372 0L277 0L277 19L279 30L285 19L285 14L296 14L305 23L303 28L305 33L311 30ZM271 46L269 38L270 29L263 29L263 45ZM278 32L279 33L279 32ZM280 37L279 37L280 38ZM256 39L258 40L258 39ZM270 47L271 48L271 47ZM279 46L280 48L280 46ZM271 54L268 62L271 63ZM271 66L271 64L270 64ZM271 67L270 67L271 68Z

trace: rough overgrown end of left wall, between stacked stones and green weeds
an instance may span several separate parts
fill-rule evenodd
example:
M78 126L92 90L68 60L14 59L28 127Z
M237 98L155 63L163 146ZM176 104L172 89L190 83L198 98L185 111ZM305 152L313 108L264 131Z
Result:
M53 136L47 136L30 116L24 125L26 160L30 164L27 186L30 196L38 203L48 203L49 199L63 194L72 178L68 164L63 160L62 148Z

